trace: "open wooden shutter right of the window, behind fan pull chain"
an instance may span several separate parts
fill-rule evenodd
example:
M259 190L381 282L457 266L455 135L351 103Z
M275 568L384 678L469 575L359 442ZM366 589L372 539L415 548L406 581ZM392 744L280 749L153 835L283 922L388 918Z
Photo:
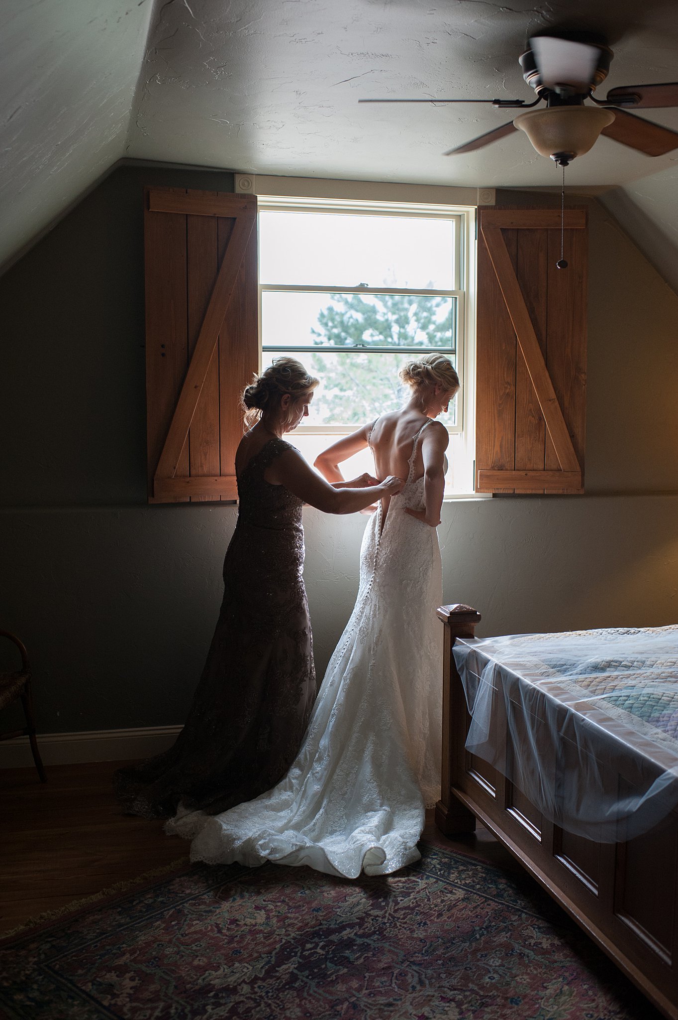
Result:
M584 209L479 210L475 491L581 493Z

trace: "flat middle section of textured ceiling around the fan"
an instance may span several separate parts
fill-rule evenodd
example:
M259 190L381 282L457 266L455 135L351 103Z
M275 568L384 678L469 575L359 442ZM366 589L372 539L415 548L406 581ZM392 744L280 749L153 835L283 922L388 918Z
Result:
M587 11L581 20L590 23L591 9L611 4L578 6ZM611 86L677 75L666 18L654 17L652 6L644 5L647 27L628 28L617 45ZM518 65L525 40L561 13L571 20L576 7L557 0L541 7L529 0L511 7L484 0L173 0L159 12L149 40L130 151L297 176L553 184L558 169L522 133L465 156L443 156L511 120L513 111L472 104L359 106L357 100L529 102L534 94ZM678 109L657 113L655 119L678 129ZM621 184L668 166L669 159L649 160L603 138L567 177L577 185Z

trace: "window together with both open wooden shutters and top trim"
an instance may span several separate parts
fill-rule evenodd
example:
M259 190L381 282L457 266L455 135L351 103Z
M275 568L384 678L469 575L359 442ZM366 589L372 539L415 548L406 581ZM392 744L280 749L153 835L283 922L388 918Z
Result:
M236 174L235 193L145 189L151 502L235 498L238 399L262 339L265 358L289 351L323 379L295 435L312 461L333 432L397 406L400 361L433 349L462 385L447 420L448 494L583 491L585 209L565 212L563 273L558 209L486 207L475 245L490 189L257 184L321 192L263 199L261 286L251 177ZM450 193L469 204L443 205ZM366 451L345 465L370 466Z

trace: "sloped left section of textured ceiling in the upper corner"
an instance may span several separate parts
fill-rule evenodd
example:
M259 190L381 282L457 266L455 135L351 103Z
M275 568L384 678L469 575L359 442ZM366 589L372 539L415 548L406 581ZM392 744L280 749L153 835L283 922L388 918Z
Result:
M0 3L0 265L124 155L152 0Z

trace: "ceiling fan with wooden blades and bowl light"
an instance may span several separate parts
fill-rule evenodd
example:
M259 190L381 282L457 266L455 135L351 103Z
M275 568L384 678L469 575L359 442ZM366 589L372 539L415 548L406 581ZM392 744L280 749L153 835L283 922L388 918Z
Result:
M360 99L360 103L491 103L499 109L519 109L513 120L446 152L461 155L524 131L534 149L567 166L592 147L601 134L647 156L663 156L678 148L678 132L629 113L628 109L678 106L678 82L628 85L612 89L605 99L594 90L605 81L613 52L600 36L553 33L532 36L519 57L522 76L536 99ZM590 100L592 106L584 105ZM546 102L541 109L533 109Z

